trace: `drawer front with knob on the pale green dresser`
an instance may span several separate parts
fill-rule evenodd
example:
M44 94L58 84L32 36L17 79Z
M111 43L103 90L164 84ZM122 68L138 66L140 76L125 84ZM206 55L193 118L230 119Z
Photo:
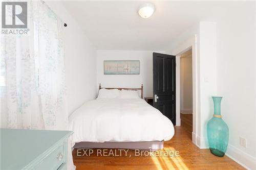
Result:
M62 163L66 161L66 142L59 145L55 150L53 150L46 158L42 159L40 164L36 166L35 169L58 169Z

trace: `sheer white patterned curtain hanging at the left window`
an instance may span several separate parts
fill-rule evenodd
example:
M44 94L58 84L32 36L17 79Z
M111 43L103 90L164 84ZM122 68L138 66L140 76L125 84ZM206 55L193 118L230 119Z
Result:
M29 1L28 28L28 35L1 35L1 127L67 130L63 22Z

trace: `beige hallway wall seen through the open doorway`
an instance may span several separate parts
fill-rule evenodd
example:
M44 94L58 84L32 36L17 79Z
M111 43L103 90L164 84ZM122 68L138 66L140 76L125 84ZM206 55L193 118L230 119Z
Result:
M180 59L180 111L193 112L192 54Z

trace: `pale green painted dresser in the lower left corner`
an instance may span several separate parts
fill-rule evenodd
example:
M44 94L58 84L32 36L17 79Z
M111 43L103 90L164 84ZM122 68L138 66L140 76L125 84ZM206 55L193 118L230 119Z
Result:
M67 169L71 131L1 129L0 169Z

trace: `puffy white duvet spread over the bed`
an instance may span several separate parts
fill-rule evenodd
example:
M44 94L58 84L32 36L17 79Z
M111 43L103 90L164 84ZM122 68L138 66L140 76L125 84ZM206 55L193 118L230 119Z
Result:
M97 99L70 117L72 143L161 141L174 136L172 122L142 99Z

